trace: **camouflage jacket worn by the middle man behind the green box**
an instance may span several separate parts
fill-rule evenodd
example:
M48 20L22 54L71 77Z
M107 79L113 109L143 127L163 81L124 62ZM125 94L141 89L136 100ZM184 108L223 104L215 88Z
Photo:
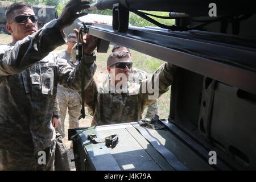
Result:
M127 82L127 92L123 93L112 93L110 80L98 85L92 80L85 89L85 104L92 111L93 122L97 125L110 125L139 121L145 107L155 101L149 100L148 96L152 95L152 90L143 92L143 85L154 85L154 79L158 80L159 98L169 89L175 70L174 65L165 63L152 77L139 83Z

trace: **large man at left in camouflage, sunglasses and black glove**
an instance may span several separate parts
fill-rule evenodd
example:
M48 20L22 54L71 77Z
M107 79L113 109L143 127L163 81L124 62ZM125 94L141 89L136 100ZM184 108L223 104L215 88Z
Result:
M65 43L63 28L85 15L77 12L88 3L69 1L60 17L39 31L30 5L17 2L7 9L6 26L13 42L0 46L0 170L54 169L56 136L51 120L57 84L79 90L82 67L88 74L85 86L89 84L96 70L92 53L98 40L84 36L86 62L75 69L49 52Z

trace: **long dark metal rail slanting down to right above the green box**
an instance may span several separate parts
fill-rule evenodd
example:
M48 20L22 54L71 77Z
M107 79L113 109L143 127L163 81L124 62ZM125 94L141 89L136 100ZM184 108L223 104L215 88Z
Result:
M230 44L229 47L228 44L224 46L213 41L205 42L204 39L199 41L199 39L193 40L189 37L180 38L172 36L172 33L168 35L166 32L163 34L159 30L149 31L146 28L133 28L126 33L119 33L108 27L88 26L88 32L98 38L135 49L178 67L256 94L256 72L254 71L256 69L254 62L256 52L254 48L241 48L242 46L237 48L233 44ZM182 44L183 47L177 44ZM189 51L189 47L193 50ZM197 48L203 51L201 53L193 52ZM202 54L207 50L210 52L210 56L214 55L214 59L209 59L207 53ZM249 64L245 65L243 62L238 63L238 65L232 64L232 61L229 62L230 60L227 58L230 57L230 54L231 57L242 57L244 60L250 60L247 61ZM218 57L227 62L218 60Z

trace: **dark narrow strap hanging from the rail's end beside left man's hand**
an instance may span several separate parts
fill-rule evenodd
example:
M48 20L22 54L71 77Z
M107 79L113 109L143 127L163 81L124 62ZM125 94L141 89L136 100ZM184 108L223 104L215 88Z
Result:
M77 37L77 44L76 44L76 63L75 65L79 65L82 63L82 58L84 57L84 44L81 42L82 39L82 32L85 34L88 33L87 27L84 22L82 22L84 27L79 28L79 36ZM81 38L81 39L80 39ZM83 40L82 40L83 41ZM85 100L85 93L84 93L84 77L85 77L85 69L84 66L82 66L81 70L82 80L81 80L81 92L82 92L82 108L81 108L81 115L78 118L79 120L81 118L85 118L85 109L84 109L84 100Z

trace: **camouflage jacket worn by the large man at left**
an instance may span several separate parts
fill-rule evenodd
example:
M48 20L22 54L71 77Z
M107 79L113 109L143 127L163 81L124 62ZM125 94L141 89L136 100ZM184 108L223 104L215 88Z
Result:
M73 68L49 53L64 43L55 19L15 44L0 46L0 150L37 154L51 146L57 84L81 90L84 64ZM84 57L88 85L96 70L95 56Z

